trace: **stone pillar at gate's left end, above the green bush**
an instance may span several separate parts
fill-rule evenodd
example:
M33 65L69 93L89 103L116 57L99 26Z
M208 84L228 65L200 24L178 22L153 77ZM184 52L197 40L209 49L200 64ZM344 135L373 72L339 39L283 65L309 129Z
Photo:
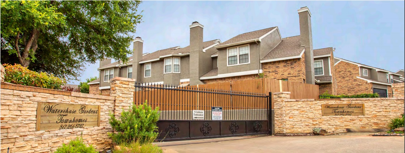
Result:
M114 77L110 83L110 96L115 97L114 115L119 117L123 108L128 110L134 103L135 79Z

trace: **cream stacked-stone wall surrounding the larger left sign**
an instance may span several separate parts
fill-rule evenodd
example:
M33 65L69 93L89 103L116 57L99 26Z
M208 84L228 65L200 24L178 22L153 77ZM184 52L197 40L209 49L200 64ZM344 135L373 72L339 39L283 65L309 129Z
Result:
M82 136L97 151L111 149L107 132L114 97L1 83L1 153L51 153L63 143ZM100 105L100 126L36 131L38 102Z

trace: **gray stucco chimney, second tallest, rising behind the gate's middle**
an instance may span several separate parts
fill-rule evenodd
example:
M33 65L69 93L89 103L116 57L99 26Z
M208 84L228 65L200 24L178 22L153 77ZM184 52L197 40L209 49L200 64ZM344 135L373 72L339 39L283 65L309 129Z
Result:
M200 81L203 73L201 66L204 64L203 56L203 28L197 21L190 25L190 85L204 84Z

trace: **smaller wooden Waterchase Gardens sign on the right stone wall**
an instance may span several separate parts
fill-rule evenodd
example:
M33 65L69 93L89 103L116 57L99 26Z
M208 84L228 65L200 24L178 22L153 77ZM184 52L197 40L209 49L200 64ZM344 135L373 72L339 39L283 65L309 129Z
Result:
M364 115L364 104L322 104L322 116Z

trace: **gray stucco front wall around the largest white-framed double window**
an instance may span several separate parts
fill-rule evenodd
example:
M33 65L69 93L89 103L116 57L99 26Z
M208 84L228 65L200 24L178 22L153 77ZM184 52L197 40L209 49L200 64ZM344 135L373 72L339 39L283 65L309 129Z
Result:
M238 45L240 46L240 45ZM227 48L218 50L218 74L226 74L233 72L242 72L249 70L258 70L258 45L256 43L249 44L249 54L250 54L250 64L236 65L236 66L227 66L228 57L227 57ZM228 47L232 48L232 47Z

